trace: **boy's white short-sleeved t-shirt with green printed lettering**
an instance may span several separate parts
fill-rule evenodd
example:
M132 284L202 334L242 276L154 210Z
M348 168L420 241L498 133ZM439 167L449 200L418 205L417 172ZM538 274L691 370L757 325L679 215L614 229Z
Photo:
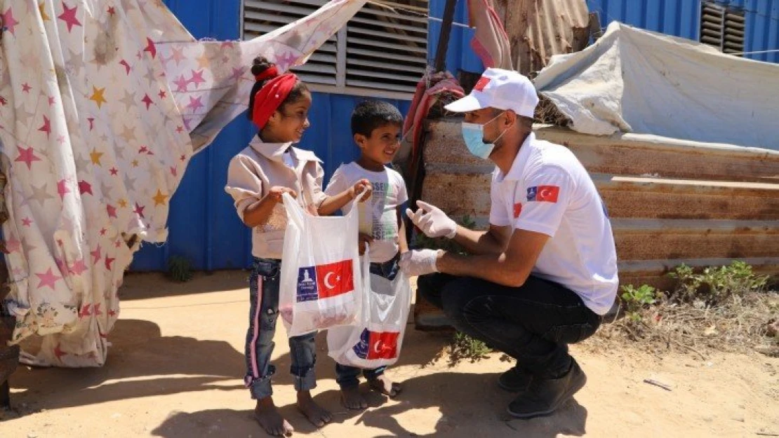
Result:
M361 179L371 182L373 194L368 201L358 203L360 233L373 237L371 261L383 263L392 260L398 251L397 208L408 201L406 183L400 173L388 167L381 172L373 172L351 162L341 164L333 173L325 194L339 194ZM344 214L351 212L353 205L354 202L344 205Z

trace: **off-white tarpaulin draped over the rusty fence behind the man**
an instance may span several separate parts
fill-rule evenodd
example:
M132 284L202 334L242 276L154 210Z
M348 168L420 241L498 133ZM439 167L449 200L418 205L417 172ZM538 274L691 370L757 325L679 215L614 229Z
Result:
M617 131L779 149L779 65L612 23L556 55L538 91L592 135Z

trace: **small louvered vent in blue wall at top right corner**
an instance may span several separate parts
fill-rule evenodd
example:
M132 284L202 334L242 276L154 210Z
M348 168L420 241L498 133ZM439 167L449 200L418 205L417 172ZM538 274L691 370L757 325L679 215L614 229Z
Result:
M742 56L746 19L743 9L705 2L700 9L700 42Z

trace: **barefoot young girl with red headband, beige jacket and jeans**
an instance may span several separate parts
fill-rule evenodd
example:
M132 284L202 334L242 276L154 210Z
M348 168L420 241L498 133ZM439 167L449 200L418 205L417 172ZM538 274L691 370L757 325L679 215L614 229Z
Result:
M275 65L256 58L252 65L256 84L249 96L249 119L259 132L249 147L231 159L227 187L241 220L252 228L254 264L249 279L249 331L246 334L246 387L257 400L256 419L267 433L291 433L292 427L273 404L270 379L276 368L270 364L279 303L279 272L287 215L281 195L291 194L308 211L326 200L322 191L324 172L313 152L297 149L308 128L311 93L292 73L279 75ZM341 194L354 198L367 183L358 183ZM291 373L298 391L298 408L315 426L332 416L311 398L316 386L315 333L289 339Z

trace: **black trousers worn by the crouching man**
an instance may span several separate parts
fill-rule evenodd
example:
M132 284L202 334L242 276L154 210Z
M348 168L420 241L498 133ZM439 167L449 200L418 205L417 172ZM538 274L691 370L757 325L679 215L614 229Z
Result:
M533 275L520 287L448 274L423 275L417 284L457 330L505 352L540 378L566 373L567 345L589 338L601 324L576 293Z

